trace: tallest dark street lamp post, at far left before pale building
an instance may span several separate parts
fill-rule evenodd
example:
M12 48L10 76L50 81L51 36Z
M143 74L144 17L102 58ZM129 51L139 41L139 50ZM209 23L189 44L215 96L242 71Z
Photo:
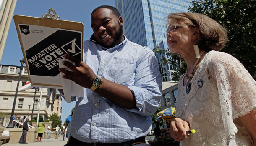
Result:
M20 79L21 79L21 72L22 72L22 69L23 69L23 64L25 63L25 60L24 58L22 58L20 60L21 62L21 67L20 67L20 73L18 75L18 83L17 83L17 88L16 88L16 93L15 93L15 96L14 96L14 101L13 101L13 109L12 109L12 113L10 114L10 122L9 122L9 125L6 127L6 128L13 128L13 114L14 114L14 109L15 109L15 104L16 104L16 99L17 99L17 94L18 94L18 85L20 83Z

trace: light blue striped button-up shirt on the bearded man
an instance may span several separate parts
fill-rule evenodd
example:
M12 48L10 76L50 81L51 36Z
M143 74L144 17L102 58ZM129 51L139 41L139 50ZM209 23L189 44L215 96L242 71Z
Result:
M88 143L120 143L146 136L152 128L150 115L162 97L162 81L153 51L126 37L123 43L109 49L86 40L84 62L97 76L130 88L137 108L128 110L84 88L84 97L77 98L68 134Z

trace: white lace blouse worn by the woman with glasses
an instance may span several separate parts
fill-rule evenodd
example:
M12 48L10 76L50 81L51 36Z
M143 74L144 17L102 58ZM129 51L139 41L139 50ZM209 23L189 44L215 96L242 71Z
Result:
M196 70L188 94L183 80L181 76L176 117L187 121L196 133L180 146L251 146L238 117L256 108L256 82L236 58L210 51Z

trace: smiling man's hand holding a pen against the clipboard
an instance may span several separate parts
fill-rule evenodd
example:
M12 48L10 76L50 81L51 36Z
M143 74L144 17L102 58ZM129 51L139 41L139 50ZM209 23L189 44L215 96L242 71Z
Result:
M65 54L64 57L74 62L75 65L69 63L68 61L63 61L63 65L67 66L70 70L73 71L72 72L65 70L64 68L59 68L59 71L65 74L63 78L72 80L84 88L91 88L94 78L97 77L92 69L83 61L78 60L71 55Z

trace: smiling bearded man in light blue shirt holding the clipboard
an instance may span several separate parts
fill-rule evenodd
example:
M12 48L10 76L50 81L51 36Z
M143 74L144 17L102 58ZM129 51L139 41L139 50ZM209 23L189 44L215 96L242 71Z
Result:
M93 35L84 42L84 62L64 55L75 65L63 61L72 70L60 68L63 78L84 87L66 146L146 146L145 136L152 128L150 115L162 96L161 76L153 51L128 41L123 24L116 8L94 9Z

